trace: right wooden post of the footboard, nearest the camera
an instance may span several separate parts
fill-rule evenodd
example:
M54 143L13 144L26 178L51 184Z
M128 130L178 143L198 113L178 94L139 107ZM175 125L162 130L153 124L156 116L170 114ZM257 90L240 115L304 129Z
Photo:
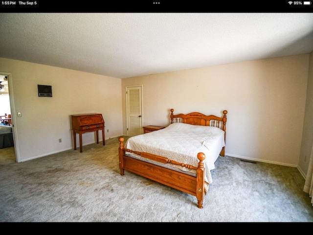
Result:
M204 153L198 153L197 158L199 159L198 169L197 169L197 199L198 199L198 208L202 209L203 198L204 198L204 164L205 159Z

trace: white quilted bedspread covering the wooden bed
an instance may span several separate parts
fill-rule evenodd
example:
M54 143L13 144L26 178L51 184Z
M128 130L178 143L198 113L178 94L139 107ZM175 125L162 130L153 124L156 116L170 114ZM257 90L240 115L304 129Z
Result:
M131 137L125 144L126 148L134 151L156 154L196 167L199 162L197 154L203 152L205 154L205 181L209 184L212 183L210 171L215 168L214 163L224 146L223 130L212 126L197 126L179 122L158 131ZM196 173L196 170L170 165L182 171Z

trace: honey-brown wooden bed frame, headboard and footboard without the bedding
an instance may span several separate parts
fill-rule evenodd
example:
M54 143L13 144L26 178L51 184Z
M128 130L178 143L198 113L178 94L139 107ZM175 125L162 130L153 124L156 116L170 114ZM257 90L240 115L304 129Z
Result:
M201 125L201 126L215 126L224 130L224 140L226 138L226 114L227 111L224 110L224 116L222 118L194 112L190 114L173 114L174 109L171 109L171 123L182 122L192 125ZM120 174L124 175L124 170L128 170L137 175L141 175L148 179L154 180L160 184L169 186L171 188L178 189L182 192L189 193L193 196L196 196L198 199L198 208L202 208L202 203L204 195L206 194L205 190L205 181L204 181L204 164L203 160L205 159L204 153L200 152L197 155L199 159L198 166L178 163L172 161L164 156L157 156L151 153L138 152L132 149L124 148L123 141L124 137L119 137L119 148L118 148L118 157L119 157L119 168ZM125 154L125 152L134 153L140 155L141 157L157 161L162 164L176 164L188 169L195 169L197 171L197 176L187 175L175 170L164 168L155 164L147 163L140 161L138 159L131 158ZM221 156L225 156L225 147L222 148Z

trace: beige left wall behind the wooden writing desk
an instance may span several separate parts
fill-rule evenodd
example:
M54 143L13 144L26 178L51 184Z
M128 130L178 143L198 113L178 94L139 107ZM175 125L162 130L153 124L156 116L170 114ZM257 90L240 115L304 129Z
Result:
M13 120L21 161L71 149L73 114L101 113L105 139L122 133L121 79L4 58L1 72L12 74L10 95L13 89L15 113L22 113ZM38 97L38 84L51 85L53 97ZM94 141L94 132L83 135L83 145Z

